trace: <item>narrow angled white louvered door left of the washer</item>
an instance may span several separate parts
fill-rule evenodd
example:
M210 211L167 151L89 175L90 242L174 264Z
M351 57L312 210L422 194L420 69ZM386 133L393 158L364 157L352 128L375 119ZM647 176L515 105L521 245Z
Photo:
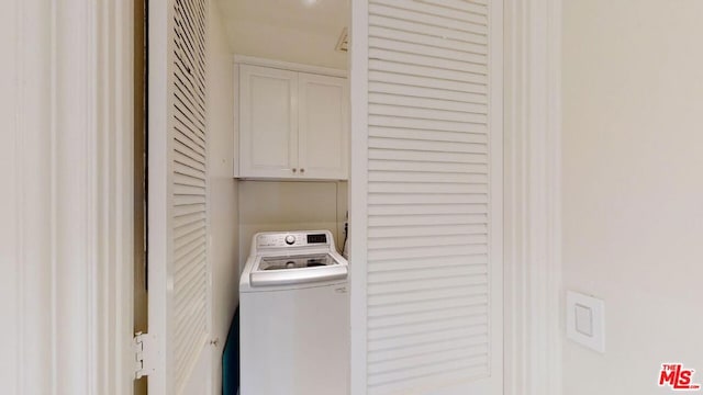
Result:
M207 394L208 0L148 3L148 392Z

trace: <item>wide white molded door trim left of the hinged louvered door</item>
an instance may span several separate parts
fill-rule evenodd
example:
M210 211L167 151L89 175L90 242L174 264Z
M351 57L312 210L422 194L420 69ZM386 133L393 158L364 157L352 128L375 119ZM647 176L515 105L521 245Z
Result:
M132 1L16 1L19 393L130 394Z

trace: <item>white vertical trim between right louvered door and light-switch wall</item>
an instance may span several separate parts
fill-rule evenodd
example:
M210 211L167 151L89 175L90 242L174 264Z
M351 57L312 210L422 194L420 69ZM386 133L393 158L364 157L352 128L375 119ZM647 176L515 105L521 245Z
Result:
M561 0L505 0L505 395L559 395Z

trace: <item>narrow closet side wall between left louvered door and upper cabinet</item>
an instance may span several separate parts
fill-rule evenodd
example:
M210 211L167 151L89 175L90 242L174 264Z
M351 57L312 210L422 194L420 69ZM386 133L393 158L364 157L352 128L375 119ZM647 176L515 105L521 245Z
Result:
M222 351L238 304L237 183L232 178L234 81L232 52L215 1L210 2L208 35L208 171L210 177L210 262L212 264L214 393L222 390ZM238 339L234 339L238 341Z

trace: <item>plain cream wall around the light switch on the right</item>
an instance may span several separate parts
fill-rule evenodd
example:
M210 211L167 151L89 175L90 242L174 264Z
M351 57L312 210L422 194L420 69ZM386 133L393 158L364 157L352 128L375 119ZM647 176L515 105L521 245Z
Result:
M703 1L563 1L563 286L605 301L605 353L563 342L565 395L703 382Z

